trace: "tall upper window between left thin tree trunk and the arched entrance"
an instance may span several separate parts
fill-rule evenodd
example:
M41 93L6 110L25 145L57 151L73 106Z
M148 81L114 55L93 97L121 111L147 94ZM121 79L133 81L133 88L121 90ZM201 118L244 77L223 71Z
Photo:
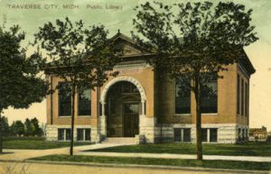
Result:
M78 115L91 115L91 89L79 87Z

